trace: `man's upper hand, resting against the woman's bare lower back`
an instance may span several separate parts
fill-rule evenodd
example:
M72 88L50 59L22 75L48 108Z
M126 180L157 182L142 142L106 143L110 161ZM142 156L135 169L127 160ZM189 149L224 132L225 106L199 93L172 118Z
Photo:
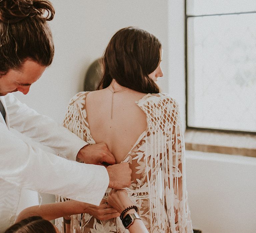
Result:
M77 158L82 160L84 163L95 165L112 165L116 163L114 155L103 142L85 145L79 150Z

